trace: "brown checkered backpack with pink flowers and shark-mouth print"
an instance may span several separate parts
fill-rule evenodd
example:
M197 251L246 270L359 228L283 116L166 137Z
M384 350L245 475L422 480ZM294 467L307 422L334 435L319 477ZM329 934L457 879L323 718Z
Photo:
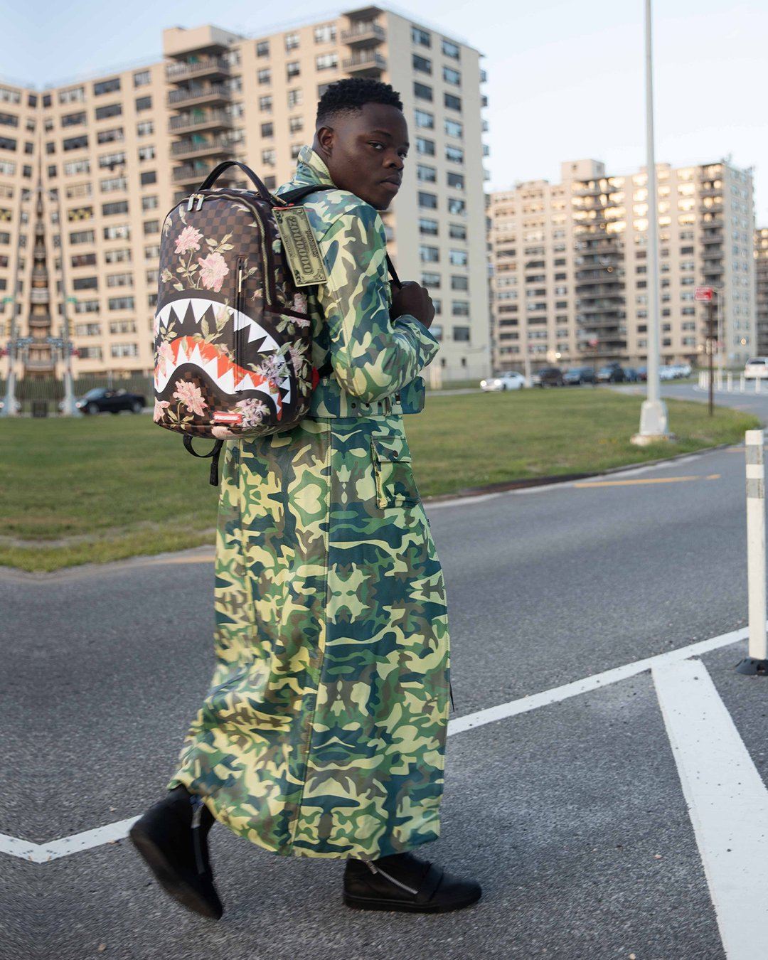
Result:
M240 167L255 190L213 189L230 166ZM296 206L329 189L309 184L276 197L244 163L225 160L163 222L154 420L181 433L193 456L212 458L214 487L227 438L290 430L332 370L311 363L303 291L326 277L306 214ZM387 263L399 285L389 255ZM195 437L215 440L213 448L198 453Z

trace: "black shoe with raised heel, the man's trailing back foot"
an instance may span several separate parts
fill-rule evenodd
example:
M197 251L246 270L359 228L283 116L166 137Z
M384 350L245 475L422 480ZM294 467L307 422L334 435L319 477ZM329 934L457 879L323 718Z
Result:
M213 885L207 835L213 815L183 785L151 806L129 830L163 890L188 910L218 920L224 913Z

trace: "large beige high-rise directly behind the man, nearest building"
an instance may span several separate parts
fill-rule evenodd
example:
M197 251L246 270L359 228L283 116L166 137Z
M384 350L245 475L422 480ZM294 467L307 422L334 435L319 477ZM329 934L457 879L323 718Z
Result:
M229 157L270 189L288 180L325 87L350 76L390 83L403 102L411 147L382 219L401 278L436 301L435 364L444 379L488 372L478 51L366 7L270 36L172 28L163 55L44 91L0 82L0 299L15 290L15 335L34 338L17 376L61 375L47 338L60 337L63 307L75 376L152 372L167 211ZM250 182L236 168L232 181Z

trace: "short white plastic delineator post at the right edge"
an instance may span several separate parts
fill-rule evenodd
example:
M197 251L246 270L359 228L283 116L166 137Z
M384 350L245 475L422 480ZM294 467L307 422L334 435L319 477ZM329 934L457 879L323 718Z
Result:
M748 656L737 664L739 673L768 677L765 635L765 466L763 432L747 430L747 585L749 594Z

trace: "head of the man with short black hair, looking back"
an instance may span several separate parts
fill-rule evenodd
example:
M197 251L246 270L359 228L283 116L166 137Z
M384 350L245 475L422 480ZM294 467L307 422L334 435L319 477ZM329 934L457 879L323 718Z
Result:
M318 104L312 149L336 186L386 210L408 153L408 127L396 91L366 78L330 84Z

